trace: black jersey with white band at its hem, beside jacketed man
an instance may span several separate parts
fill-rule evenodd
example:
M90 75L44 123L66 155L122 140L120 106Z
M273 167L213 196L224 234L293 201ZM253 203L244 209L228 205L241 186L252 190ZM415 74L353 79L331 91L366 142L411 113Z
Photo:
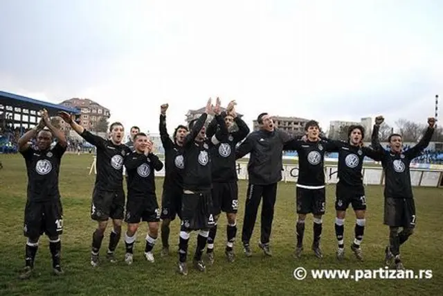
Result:
M319 141L302 141L293 139L284 144L284 150L296 150L298 153L297 186L307 189L325 186L325 152L333 151L334 143L321 139Z

